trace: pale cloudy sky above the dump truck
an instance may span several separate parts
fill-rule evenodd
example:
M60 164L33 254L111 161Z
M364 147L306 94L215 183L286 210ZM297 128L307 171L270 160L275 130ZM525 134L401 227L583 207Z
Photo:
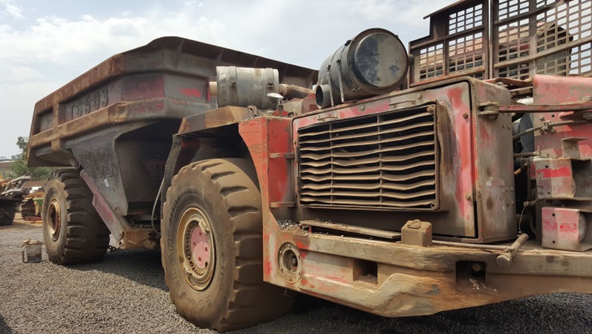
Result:
M115 53L179 36L318 69L348 38L386 28L407 46L454 0L0 0L0 157L35 102Z

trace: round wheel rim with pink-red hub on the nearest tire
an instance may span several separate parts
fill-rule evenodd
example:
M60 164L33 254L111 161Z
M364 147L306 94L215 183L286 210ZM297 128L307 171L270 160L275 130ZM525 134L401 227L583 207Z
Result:
M195 290L205 290L214 276L215 245L204 211L196 207L185 210L179 221L177 247L183 255L181 269L185 280Z

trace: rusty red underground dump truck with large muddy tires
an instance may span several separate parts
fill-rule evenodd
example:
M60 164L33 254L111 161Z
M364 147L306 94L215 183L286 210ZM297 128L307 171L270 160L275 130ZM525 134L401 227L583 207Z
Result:
M218 331L297 292L388 317L592 293L592 79L453 77L379 28L336 47L317 72L160 38L39 101L50 260L160 246Z

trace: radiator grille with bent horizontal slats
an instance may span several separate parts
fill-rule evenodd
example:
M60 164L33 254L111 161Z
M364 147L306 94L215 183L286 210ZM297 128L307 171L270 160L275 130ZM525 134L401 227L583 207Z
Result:
M298 130L300 204L436 210L435 105Z

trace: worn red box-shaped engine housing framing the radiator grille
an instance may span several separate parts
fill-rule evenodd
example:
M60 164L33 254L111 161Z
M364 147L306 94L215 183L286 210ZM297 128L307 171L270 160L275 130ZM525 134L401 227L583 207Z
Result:
M422 88L394 92L382 97L369 98L352 104L300 115L294 119L292 133L304 133L300 129L313 126L313 124L314 127L327 127L338 120L352 122L356 120L355 117L361 117L361 115L380 115L388 113L390 110L404 111L414 110L414 108L419 110L423 104L437 105L435 110L437 113L437 150L440 152L439 158L437 158L437 163L440 166L437 169L440 180L437 190L439 196L437 211L431 214L420 211L401 213L397 215L396 219L393 219L386 213L368 211L375 208L365 207L364 211L356 211L355 207L342 204L340 208L348 208L347 213L336 210L320 210L320 208L313 207L299 207L297 220L332 220L339 223L361 224L365 227L397 231L407 220L420 219L433 224L435 235L465 237L466 240L472 240L472 242L505 240L516 235L515 203L513 203L514 181L513 174L508 172L513 165L513 156L509 149L511 147L511 136L509 136L511 117L509 114L502 113L500 117L491 120L476 114L480 101L499 101L500 104L509 104L509 92L507 89L470 79L456 79L442 85L429 85ZM394 111L394 113L398 111ZM316 132L313 131L313 133ZM330 129L327 133L330 133ZM356 136L358 134L359 132L356 133ZM308 194L305 191L310 191L303 191L302 188L303 185L307 185L307 182L303 180L308 175L305 171L314 167L306 164L309 161L313 164L324 161L307 160L307 154L314 152L302 150L302 145L299 142L303 140L305 139L298 138L297 140L295 150L300 150L300 152L297 155L298 163L295 163L294 167L300 171L300 175L298 175L300 203L303 203L301 198L305 198ZM314 137L311 140L320 139ZM352 138L350 140L359 139ZM325 142L326 140L324 142L321 140L320 143L311 143L311 145L314 145L312 147L315 149L322 147ZM342 149L342 152L338 152L340 155L344 152L355 155L363 147L353 145L337 148ZM318 156L316 157L318 158ZM333 157L334 159L335 157ZM352 159L356 160L355 156ZM302 164L305 166L300 166ZM500 165L508 166L508 168L500 169ZM362 162L356 163L356 166L362 169L368 168ZM343 168L342 166L337 167ZM339 175L331 173L327 175L332 175L332 177ZM332 187L336 184L336 181L333 181ZM359 189L362 190L367 186L367 183L364 182L359 186ZM337 184L339 185L339 183ZM318 187L317 184L311 185ZM323 185L322 182L321 185ZM362 199L360 196L356 197L357 201ZM475 205L477 205L476 208ZM499 210L499 205L502 206L502 210ZM400 208L403 212L410 211L410 209ZM388 211L389 209L385 207L382 210ZM475 214L479 216L479 219L475 217ZM478 223L475 224L475 221Z

